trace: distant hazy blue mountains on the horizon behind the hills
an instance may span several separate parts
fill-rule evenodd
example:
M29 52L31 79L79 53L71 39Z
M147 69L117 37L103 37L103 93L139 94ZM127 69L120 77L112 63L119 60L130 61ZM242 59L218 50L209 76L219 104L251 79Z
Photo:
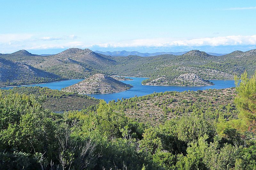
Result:
M164 54L172 54L172 55L183 55L185 53L187 53L188 51L183 51L183 52L156 52L156 53L140 53L138 51L106 51L106 52L102 52L102 51L94 51L95 53L99 53L99 54L104 54L104 55L110 55L110 56L128 56L128 55L138 55L138 56L142 56L142 57L146 57L146 56L155 56L155 55L164 55ZM219 53L207 53L209 55L215 55L215 56L221 56L221 55L225 55L225 54L219 54Z

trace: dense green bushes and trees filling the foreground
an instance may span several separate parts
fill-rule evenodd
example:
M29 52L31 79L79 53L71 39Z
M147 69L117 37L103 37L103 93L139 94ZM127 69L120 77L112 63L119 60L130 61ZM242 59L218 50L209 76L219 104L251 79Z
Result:
M44 97L1 91L0 169L255 169L255 75L236 92L237 116L212 122L195 106L150 126L121 101L59 115Z

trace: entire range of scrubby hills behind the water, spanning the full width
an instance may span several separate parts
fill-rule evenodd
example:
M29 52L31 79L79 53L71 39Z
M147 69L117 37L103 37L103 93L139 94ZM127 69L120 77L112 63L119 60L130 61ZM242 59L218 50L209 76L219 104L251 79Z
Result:
M12 54L2 54L1 57L20 61L68 79L85 78L97 73L151 78L163 75L170 78L193 73L203 79L233 79L235 74L240 75L244 70L248 70L249 75L254 73L255 51L234 51L216 56L191 50L182 55L162 54L143 57L138 56L140 54L136 51L133 52L137 55L110 56L90 49L69 48L55 55L33 55L20 50ZM121 53L126 55L126 51Z

